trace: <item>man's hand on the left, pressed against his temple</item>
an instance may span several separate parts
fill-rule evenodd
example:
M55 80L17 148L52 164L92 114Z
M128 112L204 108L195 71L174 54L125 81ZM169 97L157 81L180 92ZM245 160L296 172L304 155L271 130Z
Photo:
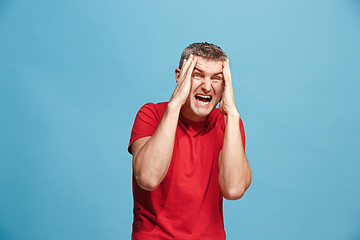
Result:
M197 58L194 55L190 55L188 59L185 59L181 67L180 75L177 78L177 84L175 90L170 98L169 103L173 103L178 107L182 107L187 97L189 96L191 89L191 75L194 70Z

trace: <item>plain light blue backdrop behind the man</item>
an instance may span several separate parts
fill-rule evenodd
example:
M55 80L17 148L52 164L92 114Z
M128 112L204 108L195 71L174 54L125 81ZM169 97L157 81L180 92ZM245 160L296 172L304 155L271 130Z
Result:
M129 239L132 123L198 41L253 173L228 239L360 239L357 0L0 0L0 239Z

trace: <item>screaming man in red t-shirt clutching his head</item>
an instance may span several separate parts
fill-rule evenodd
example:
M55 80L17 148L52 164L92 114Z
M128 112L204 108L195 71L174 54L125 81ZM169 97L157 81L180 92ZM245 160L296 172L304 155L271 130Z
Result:
M131 133L132 239L225 239L223 197L241 198L251 182L229 60L193 43L175 78L169 102L145 104Z

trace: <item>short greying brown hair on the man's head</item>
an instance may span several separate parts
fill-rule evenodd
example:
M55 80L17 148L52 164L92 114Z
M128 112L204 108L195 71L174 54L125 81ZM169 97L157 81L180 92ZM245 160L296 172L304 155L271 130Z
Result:
M184 60L188 59L190 54L215 61L225 61L227 59L224 51L215 44L207 42L192 43L182 52L179 62L179 68L182 67Z

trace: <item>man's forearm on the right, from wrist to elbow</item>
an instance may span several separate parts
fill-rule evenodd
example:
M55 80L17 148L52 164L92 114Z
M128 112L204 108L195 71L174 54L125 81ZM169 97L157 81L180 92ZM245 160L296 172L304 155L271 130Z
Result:
M225 117L223 148L219 156L219 187L226 199L243 196L250 186L251 170L241 138L238 113Z

